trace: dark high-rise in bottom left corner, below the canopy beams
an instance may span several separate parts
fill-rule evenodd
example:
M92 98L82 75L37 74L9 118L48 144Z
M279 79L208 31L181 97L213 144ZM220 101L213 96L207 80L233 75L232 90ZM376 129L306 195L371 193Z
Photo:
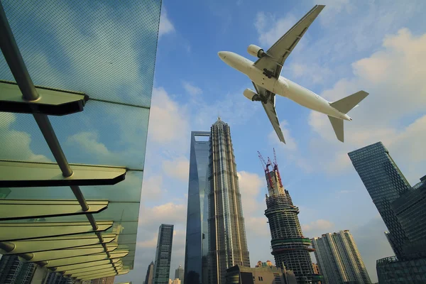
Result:
M34 271L34 263L23 263L18 256L6 255L0 259L0 283L29 284Z

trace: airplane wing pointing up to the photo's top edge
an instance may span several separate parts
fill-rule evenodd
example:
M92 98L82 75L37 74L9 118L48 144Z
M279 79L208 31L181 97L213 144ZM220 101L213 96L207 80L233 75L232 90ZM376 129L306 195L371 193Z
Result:
M311 11L307 12L293 28L290 28L271 48L266 51L268 56L258 59L254 65L260 70L272 72L273 77L280 77L281 69L288 55L293 51L300 38L306 33L307 28L317 18L325 5L315 5Z

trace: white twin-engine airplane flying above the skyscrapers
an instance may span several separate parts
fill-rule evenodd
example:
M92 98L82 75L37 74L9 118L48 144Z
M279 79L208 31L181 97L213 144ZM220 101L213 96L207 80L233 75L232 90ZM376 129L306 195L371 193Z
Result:
M256 92L252 89L245 89L243 94L253 102L262 102L273 129L275 129L278 138L283 143L285 143L285 139L275 111L275 94L287 97L302 107L327 114L337 139L342 142L344 142L343 121L352 120L347 113L354 107L358 107L359 102L368 96L367 92L359 91L337 102L328 102L309 89L280 76L288 55L292 53L299 40L306 33L307 28L324 7L325 5L315 5L266 52L257 45L249 45L247 52L258 58L256 62L229 51L220 51L218 53L219 58L227 65L244 73L252 81Z

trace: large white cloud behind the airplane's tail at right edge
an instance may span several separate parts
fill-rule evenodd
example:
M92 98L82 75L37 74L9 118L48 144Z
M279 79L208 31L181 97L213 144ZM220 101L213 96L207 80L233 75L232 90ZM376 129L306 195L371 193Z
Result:
M401 128L401 119L413 114L425 114L426 57L421 50L426 46L426 34L414 36L408 29L401 29L396 35L388 35L383 40L383 48L368 58L352 64L354 77L339 80L332 89L322 96L336 100L364 89L370 94L360 107L349 113L354 121L346 122L345 143L337 141L327 116L312 111L309 123L312 129L322 137L314 139L312 151L322 159L324 169L329 173L339 173L350 167L347 157L349 151L361 148L377 141L397 155L405 155L410 163L425 160L419 141L426 139L426 116ZM404 124L403 124L404 125ZM405 124L407 125L407 124ZM339 149L339 150L337 150ZM419 170L416 175L421 175Z

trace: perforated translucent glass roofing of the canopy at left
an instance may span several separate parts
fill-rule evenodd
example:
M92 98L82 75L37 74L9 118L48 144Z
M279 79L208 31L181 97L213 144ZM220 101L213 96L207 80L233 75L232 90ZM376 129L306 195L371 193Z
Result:
M112 186L81 187L87 200L109 200L97 221L114 225L124 268L133 269L151 107L160 0L2 0L34 84L84 92L84 111L49 119L69 163L129 169ZM15 82L3 55L0 80ZM55 162L31 114L0 113L0 159ZM9 200L70 200L70 187L11 188ZM14 222L87 221L84 215ZM1 240L0 240L1 241Z

